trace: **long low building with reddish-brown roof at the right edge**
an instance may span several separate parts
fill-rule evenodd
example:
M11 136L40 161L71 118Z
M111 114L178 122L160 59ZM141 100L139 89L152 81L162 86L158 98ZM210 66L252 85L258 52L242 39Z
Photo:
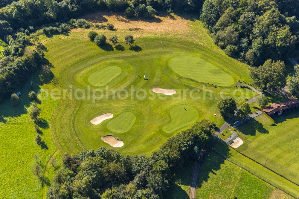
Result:
M281 115L283 112L299 109L299 100L292 100L289 102L283 102L281 104L271 104L269 107L263 109L263 111L269 116Z

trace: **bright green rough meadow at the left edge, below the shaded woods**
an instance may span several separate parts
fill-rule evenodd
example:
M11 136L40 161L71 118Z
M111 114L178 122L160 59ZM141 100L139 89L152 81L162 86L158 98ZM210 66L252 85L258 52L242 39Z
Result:
M36 132L28 111L30 104L28 92L37 91L37 88L25 86L21 91L20 102L17 107L10 105L6 100L0 105L0 193L3 198L41 198L42 186L33 176L35 161L33 156L38 154L41 164L45 167L56 147L51 138L50 127L52 113L57 105L53 99L42 100L38 105L41 108L40 118L44 120L42 127L42 140L48 149L41 149L34 141ZM39 97L40 94L39 94Z

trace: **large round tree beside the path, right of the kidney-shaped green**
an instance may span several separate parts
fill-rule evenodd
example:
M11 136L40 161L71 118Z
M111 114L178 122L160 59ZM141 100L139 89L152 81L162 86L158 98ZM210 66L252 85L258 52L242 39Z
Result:
M217 108L222 117L227 118L235 114L237 110L237 103L231 97L224 97L218 102Z

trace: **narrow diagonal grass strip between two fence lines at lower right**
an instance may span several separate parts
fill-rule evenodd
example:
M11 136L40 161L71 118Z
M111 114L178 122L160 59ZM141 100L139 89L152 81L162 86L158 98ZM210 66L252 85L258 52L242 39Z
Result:
M227 156L230 160L244 167L246 170L258 175L260 178L266 179L266 181L272 185L279 187L290 195L299 197L299 186L275 174L248 157L238 153L233 148L228 147L228 145L216 140L213 143L212 148L216 149L217 151L221 151L221 153Z

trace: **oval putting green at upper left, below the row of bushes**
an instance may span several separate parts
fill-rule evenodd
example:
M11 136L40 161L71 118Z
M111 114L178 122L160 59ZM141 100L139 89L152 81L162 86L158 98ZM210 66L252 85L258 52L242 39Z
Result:
M106 66L94 71L88 76L88 82L93 86L107 85L112 79L120 75L121 68L118 66Z

